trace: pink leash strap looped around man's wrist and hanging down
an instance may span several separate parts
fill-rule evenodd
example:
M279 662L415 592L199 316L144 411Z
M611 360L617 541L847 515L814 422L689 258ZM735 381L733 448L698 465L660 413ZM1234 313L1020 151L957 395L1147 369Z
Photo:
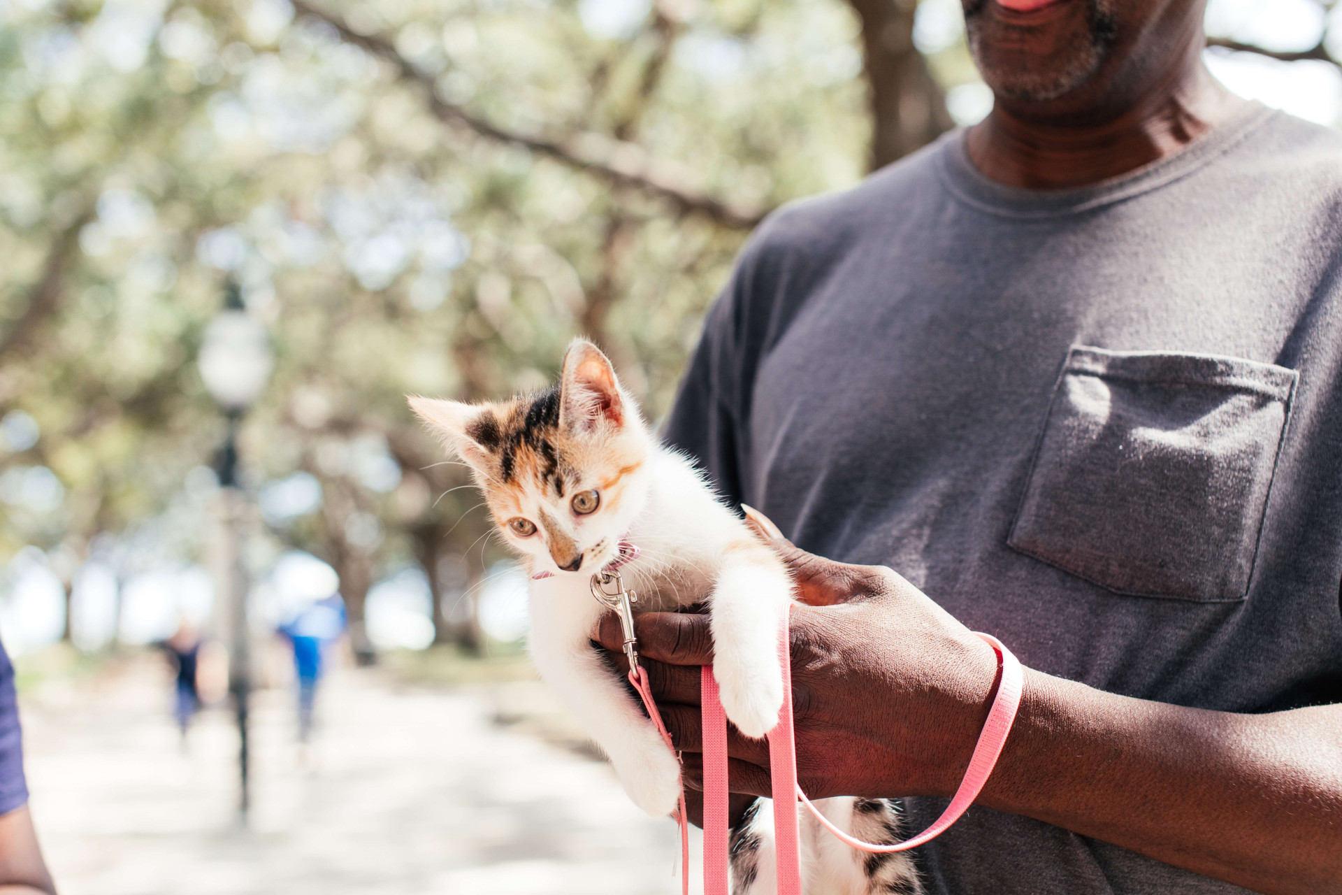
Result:
M976 632L977 633L977 632ZM803 895L801 892L801 861L797 836L797 809L800 800L811 813L816 816L821 825L848 845L864 852L888 853L917 848L943 833L965 813L984 784L992 774L1001 755L1007 737L1011 734L1012 722L1020 708L1020 696L1024 686L1024 675L1020 662L996 637L978 633L997 653L1000 682L997 696L988 710L988 721L978 734L969 768L960 782L960 788L951 797L946 810L942 812L931 827L919 835L892 845L874 845L864 843L835 827L820 809L811 804L807 794L797 785L797 758L796 743L792 726L792 660L788 641L788 624L784 619L781 636L778 640L778 662L782 670L782 710L778 714L778 726L769 731L769 770L773 782L773 813L774 813L774 849L777 857L778 895ZM727 750L726 750L726 717L722 703L718 699L717 682L713 679L713 670L703 668L702 672L702 711L703 711L703 782L705 782L705 835L703 835L703 891L705 895L729 895L727 886L727 848L726 848L726 805L727 805ZM711 772L710 772L711 769ZM709 805L715 810L710 814ZM721 806L721 808L718 808ZM682 816L684 810L682 809ZM713 829L710 829L710 827ZM711 849L710 851L710 844Z

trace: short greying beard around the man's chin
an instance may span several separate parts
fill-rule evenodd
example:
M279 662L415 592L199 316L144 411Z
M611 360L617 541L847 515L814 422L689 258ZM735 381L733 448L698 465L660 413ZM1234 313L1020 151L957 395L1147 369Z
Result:
M990 54L982 52L982 30L980 12L989 0L974 0L965 7L965 27L969 35L969 50L978 64L984 81L992 89L1011 99L1025 102L1045 102L1056 99L1091 79L1110 47L1114 46L1113 0L1086 0L1086 31L1076 35L1075 50L1056 60L1047 71L1025 74L1015 68L992 64Z

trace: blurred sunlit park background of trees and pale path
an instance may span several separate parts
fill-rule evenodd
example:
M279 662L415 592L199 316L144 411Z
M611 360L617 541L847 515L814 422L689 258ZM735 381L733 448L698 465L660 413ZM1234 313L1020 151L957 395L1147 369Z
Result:
M1212 0L1208 32L1232 90L1339 123L1342 5ZM0 637L63 890L678 891L404 394L544 385L581 333L656 420L764 215L990 105L958 0L0 1ZM275 358L238 428L247 827L197 368L229 288ZM334 594L297 746L274 631Z

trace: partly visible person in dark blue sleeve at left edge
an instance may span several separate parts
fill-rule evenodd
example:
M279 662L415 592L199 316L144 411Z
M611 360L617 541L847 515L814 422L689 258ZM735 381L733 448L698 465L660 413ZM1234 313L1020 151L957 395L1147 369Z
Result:
M13 666L0 644L0 895L55 895L28 813Z

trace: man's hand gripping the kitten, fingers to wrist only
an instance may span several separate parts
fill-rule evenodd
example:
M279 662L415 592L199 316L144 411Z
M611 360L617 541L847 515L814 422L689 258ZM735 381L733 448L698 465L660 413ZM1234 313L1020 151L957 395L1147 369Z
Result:
M890 569L851 566L778 543L803 601L792 611L798 782L812 798L950 794L988 715L992 648ZM667 730L701 782L699 666L709 617L646 613L639 652ZM601 644L620 651L616 617ZM613 657L613 656L612 656ZM627 670L623 653L617 657ZM874 699L874 694L882 694ZM729 729L733 789L769 796L769 747Z

